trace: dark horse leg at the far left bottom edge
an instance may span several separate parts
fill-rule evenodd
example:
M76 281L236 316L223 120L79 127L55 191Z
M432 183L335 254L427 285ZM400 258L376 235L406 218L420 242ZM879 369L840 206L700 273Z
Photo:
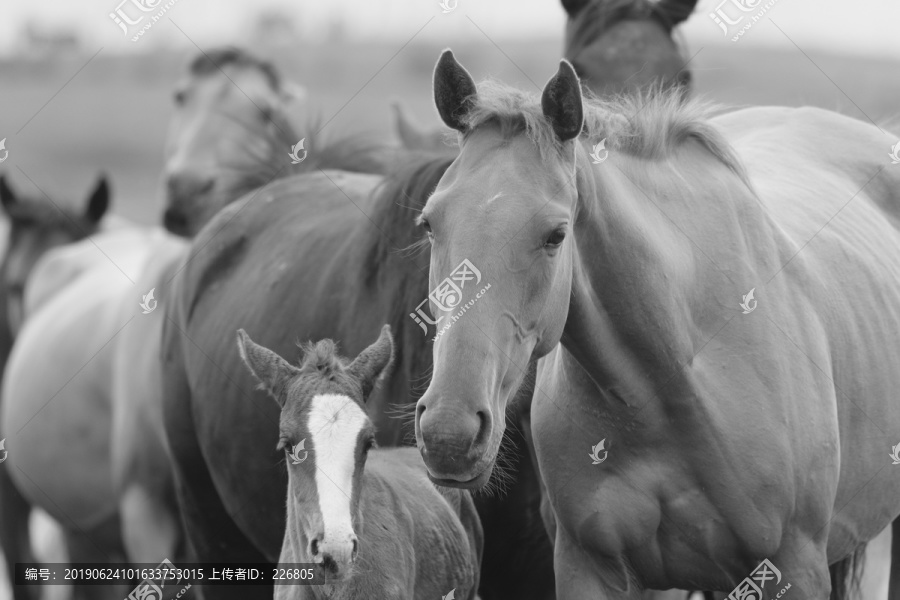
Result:
M19 493L9 471L0 468L0 547L6 562L10 586L13 588L14 600L31 600L38 593L38 588L26 585L13 585L13 573L17 562L34 562L31 551L31 540L28 534L28 516L31 505Z

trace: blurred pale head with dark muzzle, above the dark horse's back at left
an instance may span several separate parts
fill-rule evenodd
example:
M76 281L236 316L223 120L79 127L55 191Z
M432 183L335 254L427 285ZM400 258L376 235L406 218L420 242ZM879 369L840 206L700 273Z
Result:
M193 236L221 208L268 182L297 142L288 103L302 95L275 68L236 48L198 56L175 90L166 140L172 233Z

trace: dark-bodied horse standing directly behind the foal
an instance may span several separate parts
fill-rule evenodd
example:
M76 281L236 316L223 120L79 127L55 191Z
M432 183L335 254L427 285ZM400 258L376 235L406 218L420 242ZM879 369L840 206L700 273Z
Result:
M194 239L162 307L162 396L197 560L274 564L286 518L283 455L272 451L277 407L255 390L223 330L252 331L282 356L295 336L330 338L357 355L390 324L397 366L366 407L380 446L413 441L406 421L395 418L431 368L429 337L410 317L428 294L429 258L415 250L423 236L413 221L450 159L407 162L387 177L324 170L278 178L220 211ZM513 428L508 437L504 460L517 474L500 481L507 493L475 499L485 532L479 595L550 598L539 482L523 433ZM273 589L215 594L264 598Z

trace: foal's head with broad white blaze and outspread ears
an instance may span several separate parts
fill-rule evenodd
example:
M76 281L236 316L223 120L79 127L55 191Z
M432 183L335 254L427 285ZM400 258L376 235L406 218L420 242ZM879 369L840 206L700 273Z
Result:
M299 540L294 559L345 578L359 551L363 468L375 443L365 402L392 363L388 325L353 362L331 340L303 347L297 366L254 343L243 329L238 349L260 387L281 406L278 449L288 463L286 539ZM292 519L293 516L293 519Z

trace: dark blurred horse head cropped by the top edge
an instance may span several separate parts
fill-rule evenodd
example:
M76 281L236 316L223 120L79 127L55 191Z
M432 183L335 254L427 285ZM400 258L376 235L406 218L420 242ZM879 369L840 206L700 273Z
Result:
M691 88L672 32L697 0L562 0L568 15L565 57L595 94L647 88Z

